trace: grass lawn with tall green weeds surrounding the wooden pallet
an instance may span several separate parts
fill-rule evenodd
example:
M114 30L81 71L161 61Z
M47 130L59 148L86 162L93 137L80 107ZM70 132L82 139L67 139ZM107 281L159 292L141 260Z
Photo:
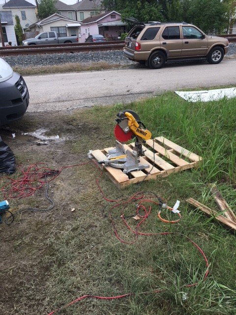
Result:
M2 290L12 296L9 301L4 294L2 314L236 314L235 234L185 201L192 197L218 211L208 187L216 184L236 213L236 99L190 103L165 93L128 105L75 111L51 132L63 136L84 122L86 132L77 129L80 136L65 141L62 150L79 157L77 163L87 162L90 149L114 146L116 115L127 108L138 113L153 137L166 137L201 156L202 163L196 169L122 190L106 174L101 175L94 163L75 167L61 183L60 177L55 179L54 190L67 187L63 198L54 195L57 209L61 199L70 198L76 208L73 218L57 221L53 214L40 220L17 217L19 231L25 221L24 231L18 234L15 222L10 227L0 226L1 238L10 229L15 234L14 249L21 252L21 260L12 265L9 259L1 275ZM29 156L16 158L24 164ZM30 156L31 163L38 158ZM50 154L45 160L53 164ZM0 183L2 186L5 178ZM40 207L41 199L30 198L30 206ZM158 219L158 203L163 200L170 207L180 201L179 222ZM149 211L145 221L133 219L140 202L140 217ZM177 218L163 208L161 214L169 220ZM41 236L36 239L35 235ZM24 262L23 269L24 255L29 262ZM15 277L20 280L13 286ZM86 295L89 297L75 301ZM75 303L63 308L72 301Z

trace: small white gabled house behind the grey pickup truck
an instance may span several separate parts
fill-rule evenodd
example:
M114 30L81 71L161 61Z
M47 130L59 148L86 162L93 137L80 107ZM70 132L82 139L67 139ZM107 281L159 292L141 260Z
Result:
M57 32L58 36L61 37L78 36L80 42L81 37L80 26L81 23L79 23L78 21L70 20L59 13L54 13L41 21L29 25L29 29L30 31L36 33L55 31ZM27 38L29 37L27 36Z

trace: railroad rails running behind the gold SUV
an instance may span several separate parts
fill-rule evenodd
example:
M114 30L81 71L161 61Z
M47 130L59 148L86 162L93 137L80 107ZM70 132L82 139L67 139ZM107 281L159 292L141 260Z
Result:
M236 43L236 34L216 35L224 37L230 43ZM53 53L78 53L96 50L121 50L124 41L109 41L105 43L74 43L74 44L52 44L52 45L29 45L29 46L7 46L0 47L0 56L37 55Z

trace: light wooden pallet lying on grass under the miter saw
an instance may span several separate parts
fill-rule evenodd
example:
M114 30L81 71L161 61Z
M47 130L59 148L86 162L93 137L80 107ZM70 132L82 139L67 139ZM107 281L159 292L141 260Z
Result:
M125 150L132 151L134 145L134 143L124 145ZM102 161L106 158L106 154L111 149L115 148L94 150L90 153L97 161ZM122 189L130 184L156 179L158 176L166 177L172 173L196 167L202 160L198 155L164 137L157 137L154 139L154 142L153 140L147 140L146 144L143 145L143 149L145 150L145 156L140 158L140 162L149 165L149 167L144 170L131 171L129 175L127 175L123 173L122 169L106 166L104 163L99 163L99 166L106 171L109 178Z

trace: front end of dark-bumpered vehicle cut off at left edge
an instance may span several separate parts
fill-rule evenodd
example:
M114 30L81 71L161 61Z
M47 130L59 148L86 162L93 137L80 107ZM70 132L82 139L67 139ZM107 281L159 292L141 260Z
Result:
M20 119L29 105L23 77L0 58L0 126Z

